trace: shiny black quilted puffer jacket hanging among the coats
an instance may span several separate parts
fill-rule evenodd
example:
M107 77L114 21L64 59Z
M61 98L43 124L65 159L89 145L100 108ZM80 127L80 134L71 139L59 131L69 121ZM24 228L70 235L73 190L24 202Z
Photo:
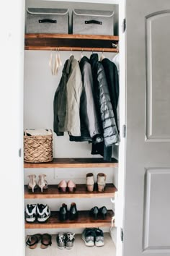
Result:
M104 67L101 61L98 61L98 54L91 54L90 61L94 78L94 88L96 90L94 96L96 96L102 120L104 144L106 147L109 147L120 142L120 137L115 123Z

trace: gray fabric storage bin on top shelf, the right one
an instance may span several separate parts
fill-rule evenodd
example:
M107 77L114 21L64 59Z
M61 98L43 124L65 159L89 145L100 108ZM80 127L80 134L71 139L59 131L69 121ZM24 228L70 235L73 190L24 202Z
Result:
M113 11L73 10L73 34L114 35Z

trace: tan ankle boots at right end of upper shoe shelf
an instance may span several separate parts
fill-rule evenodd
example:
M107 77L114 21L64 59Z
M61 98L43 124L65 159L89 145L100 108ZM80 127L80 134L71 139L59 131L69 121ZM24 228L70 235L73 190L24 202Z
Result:
M99 173L97 174L97 190L99 192L103 192L106 186L106 174ZM86 188L87 191L94 191L94 174L89 173L86 174Z

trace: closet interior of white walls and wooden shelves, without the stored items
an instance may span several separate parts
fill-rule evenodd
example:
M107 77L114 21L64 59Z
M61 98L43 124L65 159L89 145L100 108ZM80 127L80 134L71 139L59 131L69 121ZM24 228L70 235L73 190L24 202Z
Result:
M118 193L118 153L119 143L112 147L112 159L104 161L102 155L91 154L91 142L71 141L68 132L64 136L57 136L53 130L53 101L55 91L61 81L62 71L66 60L74 56L81 61L83 56L88 59L92 54L98 54L99 60L104 58L112 61L119 53L119 4L77 2L77 1L35 1L25 2L25 31L27 32L28 8L57 8L68 9L68 33L25 33L24 37L24 130L48 129L53 134L53 160L45 163L30 163L24 161L24 207L27 205L48 205L50 217L47 221L29 222L25 220L25 241L35 234L31 243L25 243L25 255L103 255L116 256L117 250L117 193ZM114 12L114 35L86 35L73 34L72 13L74 9L99 10ZM58 67L56 59L58 58ZM55 72L54 72L55 69ZM119 102L119 104L121 104ZM117 113L118 113L117 109ZM40 189L38 181L45 174L47 186ZM97 184L99 175L103 174L106 181L104 189L97 187L87 189L86 177L94 177ZM98 175L99 174L99 175ZM30 177L36 182L36 189L32 191L28 186ZM40 178L41 177L41 178ZM76 184L76 189L61 190L66 182ZM62 183L63 182L63 183ZM61 190L59 184L61 183ZM62 187L63 186L63 187ZM66 187L65 187L66 188ZM67 205L68 212L76 205L78 217L61 220L59 211ZM107 214L95 218L91 209L107 209ZM40 209L39 209L40 210ZM75 209L74 209L75 210ZM94 210L95 211L95 210ZM102 212L103 213L103 212ZM33 214L33 213L32 213ZM35 214L36 215L36 214ZM66 216L65 216L66 217ZM82 239L85 229L102 230L103 246L87 246ZM90 231L90 230L89 230ZM42 249L43 234L50 234L52 240L48 247ZM73 248L63 250L58 248L57 235L63 234L67 238L74 236ZM60 237L61 239L62 237ZM37 239L40 241L37 243ZM66 239L66 237L64 238ZM45 242L47 242L46 238ZM63 241L61 239L61 241ZM42 243L41 243L42 242ZM66 243L66 241L65 241ZM66 245L66 244L65 244ZM68 243L69 245L69 243ZM35 248L34 248L35 247ZM69 247L69 246L68 246ZM34 249L31 249L34 248Z

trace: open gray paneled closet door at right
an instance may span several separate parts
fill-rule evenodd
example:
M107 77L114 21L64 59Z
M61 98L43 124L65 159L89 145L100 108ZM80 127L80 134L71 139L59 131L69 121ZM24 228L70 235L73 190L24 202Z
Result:
M170 255L170 1L126 0L123 256Z

